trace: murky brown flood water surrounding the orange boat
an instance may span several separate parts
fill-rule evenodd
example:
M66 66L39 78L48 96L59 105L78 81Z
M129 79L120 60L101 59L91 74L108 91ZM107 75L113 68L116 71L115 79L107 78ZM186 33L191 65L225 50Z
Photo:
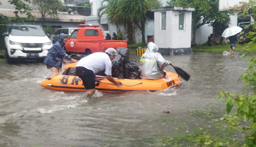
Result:
M0 61L0 147L146 147L142 138L173 136L180 126L181 133L190 132L207 124L192 112L225 114L225 102L216 99L220 90L242 92L245 84L237 80L248 66L246 59L239 60L241 54L164 56L191 75L180 88L96 92L89 101L79 99L83 92L41 87L51 75L44 63ZM175 72L171 66L165 69Z

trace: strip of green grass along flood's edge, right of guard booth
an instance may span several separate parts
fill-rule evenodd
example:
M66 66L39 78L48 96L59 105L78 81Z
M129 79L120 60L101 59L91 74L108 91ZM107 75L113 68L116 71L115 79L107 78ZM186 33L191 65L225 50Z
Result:
M242 51L244 47L248 46L248 44L236 44L236 51ZM195 47L192 47L193 51L195 52L211 52L211 53L218 53L223 51L230 51L230 45L214 45L214 46L208 46L208 45L198 45Z

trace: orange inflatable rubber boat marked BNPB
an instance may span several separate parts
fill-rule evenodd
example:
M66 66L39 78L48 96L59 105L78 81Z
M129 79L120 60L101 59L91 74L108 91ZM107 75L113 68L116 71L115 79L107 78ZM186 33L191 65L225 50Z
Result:
M65 65L64 69L69 67L76 67L76 63ZM133 90L164 90L169 87L180 85L180 76L172 72L166 72L164 78L158 80L143 80L143 79L117 79L123 83L123 86L118 88L115 84L111 83L104 76L100 82L95 82L95 88L101 92L125 92ZM78 76L72 75L56 75L51 79L44 79L41 81L41 86L62 91L86 91L83 86L82 80Z

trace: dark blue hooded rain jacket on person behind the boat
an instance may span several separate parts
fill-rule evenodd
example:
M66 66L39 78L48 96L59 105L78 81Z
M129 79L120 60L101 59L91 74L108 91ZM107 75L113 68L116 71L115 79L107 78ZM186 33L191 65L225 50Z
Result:
M58 41L50 48L47 56L45 57L44 63L49 66L60 68L62 66L63 58L71 60L72 58L68 56L64 51L65 44L62 44L63 39L67 37L64 33L61 33Z

